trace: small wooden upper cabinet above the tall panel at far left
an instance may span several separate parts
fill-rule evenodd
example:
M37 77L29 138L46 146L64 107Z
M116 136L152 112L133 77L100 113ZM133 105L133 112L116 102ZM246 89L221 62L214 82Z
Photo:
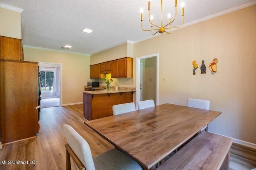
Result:
M22 40L0 36L0 59L23 61Z

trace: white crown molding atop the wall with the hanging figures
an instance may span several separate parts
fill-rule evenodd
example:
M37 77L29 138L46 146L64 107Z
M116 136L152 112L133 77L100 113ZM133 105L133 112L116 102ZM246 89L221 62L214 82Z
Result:
M256 0L252 0L252 1L246 2L246 3L244 3L244 4L241 4L241 5L238 5L238 6L234 6L233 8L229 8L229 9L227 9L227 10L218 12L218 13L216 13L216 14L212 14L212 15L210 15L210 16L206 16L206 17L200 18L200 19L198 19L198 20L194 20L194 21L191 21L191 22L188 22L188 23L184 23L184 25L183 25L182 27L172 29L172 31L175 31L175 30L177 30L177 29L181 29L181 28L183 28L183 27L187 27L187 26L189 26L189 25L194 25L194 24L199 23L199 22L202 22L202 21L210 20L210 19L212 19L212 18L215 18L215 17L218 17L218 16L222 16L222 15L224 15L224 14L228 14L228 13L230 13L230 12L234 12L234 11L237 11L237 10L240 10L240 9L242 9L242 8L246 8L246 7L255 5L255 4L256 4ZM159 35L162 35L162 34L154 35L154 37L159 36ZM148 36L148 37L146 37L146 38L144 38L144 39L142 39L142 40L140 40L140 41L134 41L133 43L139 43L139 42L141 42L141 41L144 41L144 40L147 40L147 39L150 39L150 38L152 38L152 36Z

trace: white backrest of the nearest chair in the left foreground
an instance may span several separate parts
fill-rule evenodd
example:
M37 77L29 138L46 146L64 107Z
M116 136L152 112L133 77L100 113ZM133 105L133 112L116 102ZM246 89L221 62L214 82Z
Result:
M90 146L70 125L63 125L68 145L75 152L86 170L95 170Z

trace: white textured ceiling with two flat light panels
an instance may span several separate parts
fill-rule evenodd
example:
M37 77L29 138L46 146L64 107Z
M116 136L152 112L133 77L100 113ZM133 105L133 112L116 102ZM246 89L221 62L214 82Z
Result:
M184 25L251 0L183 0ZM254 2L255 0L252 0ZM176 21L181 23L181 0ZM148 0L0 0L24 10L23 43L27 46L92 55L109 47L153 37L142 31L140 8L144 8L144 29L149 29ZM163 0L163 19L174 16L174 0ZM160 0L151 0L154 23L160 25ZM88 34L83 28L92 29ZM172 32L172 33L175 33ZM154 35L156 36L156 35ZM71 49L61 49L72 45Z

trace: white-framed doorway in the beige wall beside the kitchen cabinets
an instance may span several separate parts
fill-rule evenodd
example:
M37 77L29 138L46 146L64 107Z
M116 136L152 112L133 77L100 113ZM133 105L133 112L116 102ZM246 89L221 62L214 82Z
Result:
M157 106L159 104L159 53L137 57L136 67L136 102L153 99Z

